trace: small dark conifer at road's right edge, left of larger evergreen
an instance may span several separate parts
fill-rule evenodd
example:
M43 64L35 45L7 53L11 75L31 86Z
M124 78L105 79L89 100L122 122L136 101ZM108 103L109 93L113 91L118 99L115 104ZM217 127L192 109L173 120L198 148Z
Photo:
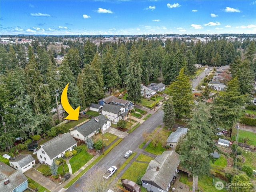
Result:
M175 113L174 113L172 98L169 98L168 101L164 103L163 110L164 110L164 116L163 116L164 124L171 130L172 126L175 123Z

